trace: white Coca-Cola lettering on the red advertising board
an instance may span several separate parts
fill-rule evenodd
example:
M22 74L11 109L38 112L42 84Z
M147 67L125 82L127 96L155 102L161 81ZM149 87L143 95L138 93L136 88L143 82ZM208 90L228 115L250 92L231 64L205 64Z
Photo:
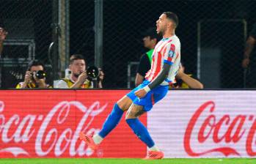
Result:
M92 150L78 140L78 134L81 131L97 132L99 129L89 129L90 124L106 106L107 104L100 105L98 101L89 107L78 101L62 101L48 110L46 115L37 112L38 114L27 113L26 116L20 116L19 113L15 113L7 118L3 114L4 102L0 101L0 154L11 153L15 157L23 154L29 157L31 150L28 151L25 149L26 146L23 146L29 143L29 146L32 146L29 149L34 149L32 152L39 157L44 157L50 152L54 152L54 156L59 157L67 150L70 157L89 156ZM36 127L34 124L39 126ZM63 124L70 126L62 127ZM12 146L8 146L10 143Z

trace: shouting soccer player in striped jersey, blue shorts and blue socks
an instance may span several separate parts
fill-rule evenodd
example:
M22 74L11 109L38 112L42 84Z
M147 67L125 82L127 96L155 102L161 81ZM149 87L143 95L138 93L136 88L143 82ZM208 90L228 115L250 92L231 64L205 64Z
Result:
M158 42L153 51L153 60L145 77L146 80L114 105L100 133L93 136L80 133L80 138L91 149L98 148L103 138L120 122L123 112L127 111L125 116L127 124L149 148L146 159L164 157L164 153L158 149L147 128L138 118L163 99L168 92L169 83L175 81L180 64L180 40L175 35L177 26L178 17L173 12L164 12L156 21L156 31L163 36L163 39Z

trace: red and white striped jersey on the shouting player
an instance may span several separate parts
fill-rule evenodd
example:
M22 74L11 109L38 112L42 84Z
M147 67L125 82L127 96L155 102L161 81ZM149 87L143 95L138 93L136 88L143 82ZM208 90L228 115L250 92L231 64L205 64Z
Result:
M169 85L175 83L175 75L180 66L180 40L176 35L169 38L163 38L156 45L152 53L151 68L147 72L145 78L147 81L153 81L160 74L164 63L172 65L168 77L161 85Z

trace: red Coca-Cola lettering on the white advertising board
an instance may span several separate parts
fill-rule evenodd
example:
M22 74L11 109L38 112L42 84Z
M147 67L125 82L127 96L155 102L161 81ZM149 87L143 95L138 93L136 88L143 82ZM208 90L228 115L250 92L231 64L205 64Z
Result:
M215 103L208 101L202 104L191 116L183 138L183 146L186 153L191 157L213 152L220 152L226 157L230 155L241 156L241 153L238 152L238 149L235 149L234 145L240 143L242 138L246 138L246 143L242 145L245 146L244 149L246 149L246 153L249 156L255 156L255 115L238 114L232 117L229 114L216 115L215 112ZM241 113L243 113L242 110ZM200 119L203 119L203 121L199 123ZM202 146L203 150L200 149L200 151L198 147L195 150L196 148L192 146L192 143L195 142L198 143L197 146ZM214 143L215 147L205 148L204 143L206 142Z

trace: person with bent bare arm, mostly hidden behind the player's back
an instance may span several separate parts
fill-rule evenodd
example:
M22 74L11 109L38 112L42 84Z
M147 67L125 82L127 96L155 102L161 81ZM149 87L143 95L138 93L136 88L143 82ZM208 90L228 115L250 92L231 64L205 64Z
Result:
M170 88L176 89L203 89L202 83L197 81L196 78L192 77L191 74L185 73L185 67L183 64L180 64L180 69L178 70L176 78L176 83L172 84Z

